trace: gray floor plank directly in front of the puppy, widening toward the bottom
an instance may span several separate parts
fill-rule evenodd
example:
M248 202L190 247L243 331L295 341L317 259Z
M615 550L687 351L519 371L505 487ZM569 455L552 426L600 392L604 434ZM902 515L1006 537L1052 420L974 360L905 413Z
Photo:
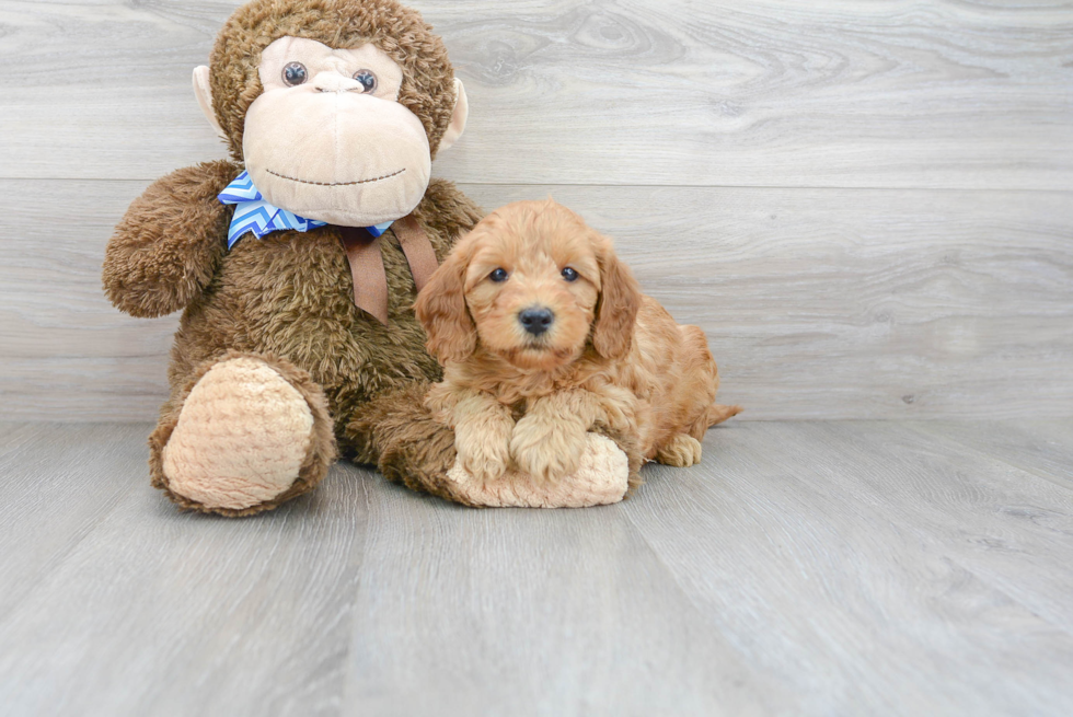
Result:
M372 485L347 703L400 717L788 706L621 507L474 513Z

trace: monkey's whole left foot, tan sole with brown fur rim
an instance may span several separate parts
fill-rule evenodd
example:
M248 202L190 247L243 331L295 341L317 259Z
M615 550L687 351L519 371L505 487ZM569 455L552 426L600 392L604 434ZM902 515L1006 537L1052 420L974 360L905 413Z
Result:
M320 388L289 363L250 355L205 370L150 443L158 487L183 507L228 516L312 489L335 458Z

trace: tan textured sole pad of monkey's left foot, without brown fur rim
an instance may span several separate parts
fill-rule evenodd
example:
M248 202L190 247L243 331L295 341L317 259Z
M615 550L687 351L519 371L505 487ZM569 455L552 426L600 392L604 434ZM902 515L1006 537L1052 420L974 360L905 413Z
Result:
M169 488L209 508L240 510L272 500L298 478L313 414L263 361L221 361L183 404L163 451Z

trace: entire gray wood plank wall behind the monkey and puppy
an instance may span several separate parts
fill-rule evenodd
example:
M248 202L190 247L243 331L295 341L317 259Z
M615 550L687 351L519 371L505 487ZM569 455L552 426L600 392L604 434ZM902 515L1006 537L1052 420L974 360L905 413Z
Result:
M0 1L2 417L153 417L176 320L100 263L223 155L189 76L236 4ZM743 417L1073 414L1073 3L411 4L470 95L437 173L613 235Z

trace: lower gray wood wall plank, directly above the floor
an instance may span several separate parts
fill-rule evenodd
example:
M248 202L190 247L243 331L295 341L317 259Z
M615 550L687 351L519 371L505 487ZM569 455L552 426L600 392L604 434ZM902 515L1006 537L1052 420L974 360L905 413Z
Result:
M0 412L147 420L175 317L108 305L100 263L141 182L0 181ZM1073 410L1073 194L462 185L549 194L702 326L743 418ZM57 216L62 205L67 213Z

